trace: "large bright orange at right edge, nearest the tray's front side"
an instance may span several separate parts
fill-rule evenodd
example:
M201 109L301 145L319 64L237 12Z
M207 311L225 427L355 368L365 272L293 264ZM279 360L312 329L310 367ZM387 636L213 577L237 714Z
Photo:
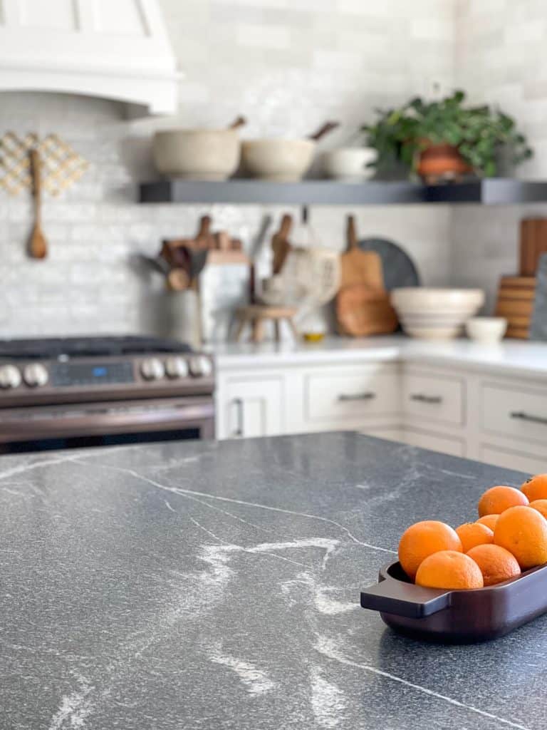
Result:
M516 557L521 570L547 563L547 520L530 507L511 507L497 520L494 544Z

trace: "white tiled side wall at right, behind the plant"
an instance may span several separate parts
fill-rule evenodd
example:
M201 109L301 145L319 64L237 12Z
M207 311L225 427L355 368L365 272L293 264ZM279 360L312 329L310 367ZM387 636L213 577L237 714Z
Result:
M499 104L519 120L535 150L519 177L545 179L547 170L547 34L544 0L458 0L455 82L471 101ZM516 274L519 220L547 215L546 205L454 207L451 279L486 287L494 306L502 274Z

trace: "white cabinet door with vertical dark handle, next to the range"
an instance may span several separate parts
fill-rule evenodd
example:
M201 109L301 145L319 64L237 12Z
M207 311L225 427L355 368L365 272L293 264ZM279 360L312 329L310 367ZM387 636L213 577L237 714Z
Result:
M219 437L232 439L282 434L283 401L280 378L230 378L219 404L222 423Z

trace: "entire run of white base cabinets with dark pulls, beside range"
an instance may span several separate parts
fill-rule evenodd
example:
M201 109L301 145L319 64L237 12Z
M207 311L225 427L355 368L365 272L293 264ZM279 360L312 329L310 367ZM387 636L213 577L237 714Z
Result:
M351 430L547 472L547 377L411 355L236 353L218 365L217 437Z

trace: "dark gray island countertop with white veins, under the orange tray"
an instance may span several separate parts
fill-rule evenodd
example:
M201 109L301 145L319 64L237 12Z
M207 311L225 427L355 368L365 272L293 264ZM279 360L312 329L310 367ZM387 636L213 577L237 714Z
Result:
M543 730L547 617L359 607L408 524L521 475L357 434L0 459L2 730Z

